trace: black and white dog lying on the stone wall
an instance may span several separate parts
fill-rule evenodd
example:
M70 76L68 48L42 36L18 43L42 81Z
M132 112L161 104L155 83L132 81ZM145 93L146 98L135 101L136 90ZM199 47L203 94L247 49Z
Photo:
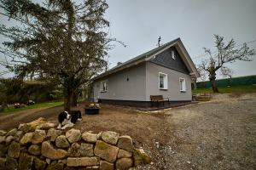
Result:
M73 127L73 125L82 120L81 111L63 111L60 113L58 129L65 129L67 127Z

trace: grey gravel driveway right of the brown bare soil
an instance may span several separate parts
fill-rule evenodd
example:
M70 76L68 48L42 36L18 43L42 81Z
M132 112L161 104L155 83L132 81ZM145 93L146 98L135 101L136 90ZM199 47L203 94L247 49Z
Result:
M169 141L148 148L154 165L138 169L256 169L256 94L218 94L166 115Z

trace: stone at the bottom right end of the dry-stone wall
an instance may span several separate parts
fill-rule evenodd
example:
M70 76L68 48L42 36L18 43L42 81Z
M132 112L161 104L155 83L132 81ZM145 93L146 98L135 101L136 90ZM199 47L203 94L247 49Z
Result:
M148 164L151 162L151 158L145 153L143 149L133 150L134 165Z

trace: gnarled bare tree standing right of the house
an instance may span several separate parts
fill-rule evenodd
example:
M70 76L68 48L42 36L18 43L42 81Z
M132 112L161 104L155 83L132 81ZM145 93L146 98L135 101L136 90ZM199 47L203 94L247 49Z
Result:
M247 43L244 43L241 48L237 48L233 38L225 44L224 37L218 35L214 35L214 37L217 53L212 53L210 49L204 48L208 58L201 61L198 70L202 74L208 75L213 93L218 93L215 82L217 71L220 70L222 74L227 74L230 70L226 64L234 63L236 60L251 61L250 57L255 53L253 49L247 47Z

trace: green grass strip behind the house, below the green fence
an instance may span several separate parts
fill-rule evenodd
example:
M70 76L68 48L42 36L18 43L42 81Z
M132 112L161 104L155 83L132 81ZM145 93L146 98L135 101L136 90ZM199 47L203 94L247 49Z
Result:
M218 87L219 93L256 93L256 85L241 85L233 87ZM212 88L197 88L193 94L212 93Z

